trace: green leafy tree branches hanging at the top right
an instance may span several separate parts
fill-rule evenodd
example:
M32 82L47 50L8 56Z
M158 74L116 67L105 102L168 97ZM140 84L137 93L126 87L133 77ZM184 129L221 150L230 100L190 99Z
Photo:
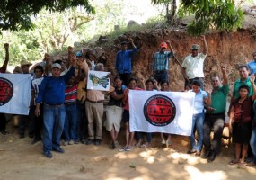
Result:
M152 0L154 4L163 1ZM210 28L231 31L240 28L244 18L234 0L181 0L178 15L184 17L190 14L194 14L194 20L188 26L191 35L204 34Z

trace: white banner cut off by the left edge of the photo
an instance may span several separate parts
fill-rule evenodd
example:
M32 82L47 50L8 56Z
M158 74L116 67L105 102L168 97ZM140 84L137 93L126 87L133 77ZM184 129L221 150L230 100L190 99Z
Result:
M28 115L30 102L30 74L0 74L0 112Z

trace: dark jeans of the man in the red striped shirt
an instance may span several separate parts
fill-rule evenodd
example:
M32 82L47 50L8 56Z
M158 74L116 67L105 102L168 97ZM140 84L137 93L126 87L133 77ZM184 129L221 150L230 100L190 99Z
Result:
M75 141L76 136L76 128L77 128L77 109L76 102L74 103L66 103L66 118L64 123L64 138L67 142L70 140Z

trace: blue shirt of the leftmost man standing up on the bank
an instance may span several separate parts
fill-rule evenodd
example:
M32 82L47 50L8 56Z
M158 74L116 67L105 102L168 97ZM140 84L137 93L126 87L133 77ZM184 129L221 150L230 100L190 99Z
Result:
M137 48L132 50L119 50L116 56L115 67L119 74L131 72L131 58L136 55Z

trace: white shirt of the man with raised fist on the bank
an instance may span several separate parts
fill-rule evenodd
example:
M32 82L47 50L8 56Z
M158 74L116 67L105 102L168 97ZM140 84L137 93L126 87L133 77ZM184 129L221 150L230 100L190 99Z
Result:
M190 55L184 59L182 67L186 68L186 74L189 79L204 77L204 61L206 57L207 55L199 53L196 57Z

